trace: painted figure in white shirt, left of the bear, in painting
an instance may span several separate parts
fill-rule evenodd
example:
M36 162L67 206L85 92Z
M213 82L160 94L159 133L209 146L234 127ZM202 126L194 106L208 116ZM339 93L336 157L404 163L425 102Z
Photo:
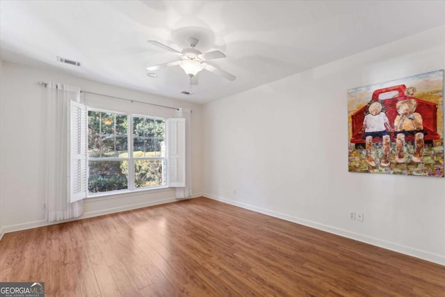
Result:
M379 137L382 139L383 155L380 166L389 166L389 153L391 152L391 140L389 138L388 131L393 131L389 126L389 120L387 118L385 103L382 100L371 100L366 105L364 112L363 128L360 133L363 133L363 138L366 143L366 162L369 166L375 166L375 160L371 155L373 138ZM388 131L387 131L388 130Z

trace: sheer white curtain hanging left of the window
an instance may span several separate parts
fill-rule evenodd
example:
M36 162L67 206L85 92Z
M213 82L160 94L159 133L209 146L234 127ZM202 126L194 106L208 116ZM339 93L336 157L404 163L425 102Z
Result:
M70 100L81 101L79 88L53 82L47 84L46 195L49 222L76 218L83 213L83 200L68 202Z

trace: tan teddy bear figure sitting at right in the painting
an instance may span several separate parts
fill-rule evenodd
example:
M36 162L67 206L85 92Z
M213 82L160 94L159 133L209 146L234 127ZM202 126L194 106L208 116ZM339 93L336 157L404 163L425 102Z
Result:
M423 161L423 120L420 113L416 113L416 99L405 99L397 102L396 109L398 115L394 120L396 130L396 162L405 162L405 136L414 135L414 154L411 161L420 163Z

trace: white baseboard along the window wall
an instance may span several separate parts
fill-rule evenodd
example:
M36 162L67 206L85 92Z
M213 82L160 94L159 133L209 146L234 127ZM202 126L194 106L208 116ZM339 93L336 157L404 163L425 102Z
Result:
M202 193L193 194L191 198L197 198L200 196L202 196ZM56 224L60 224L60 223L72 222L74 220L81 220L83 218L93 218L95 216L104 216L106 214L115 214L115 213L121 212L121 211L128 211L131 209L138 209L138 208L143 208L143 207L151 207L154 205L165 204L165 203L175 202L175 201L179 201L179 199L167 198L167 199L125 205L123 207L111 207L108 209L101 209L98 211L89 211L89 212L83 213L82 216L79 216L79 218L73 218L71 220L58 220L56 222L48 222L47 220L35 220L33 222L26 222L26 223L21 223L21 224L17 224L17 225L8 225L8 226L4 226L3 229L1 229L0 239L1 239L1 237L3 237L3 234L9 233L9 232L27 230L27 229L37 228L37 227L44 227L44 226L48 226L48 225L56 225Z

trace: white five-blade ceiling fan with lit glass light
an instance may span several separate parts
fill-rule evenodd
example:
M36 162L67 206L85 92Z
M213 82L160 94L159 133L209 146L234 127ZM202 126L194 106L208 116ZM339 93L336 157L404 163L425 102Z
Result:
M161 42L157 42L156 40L148 40L150 45L155 45L156 47L160 47L161 49L165 49L166 51L170 51L174 54L177 54L180 57L180 60L164 63L160 65L154 65L147 67L148 71L159 70L163 67L170 67L179 65L184 72L190 77L191 85L197 85L197 74L201 70L208 70L213 72L214 74L218 74L229 81L234 81L236 77L229 72L225 72L224 70L220 70L218 67L215 67L209 64L208 60L213 60L217 58L225 58L225 54L221 51L209 51L207 53L202 54L201 51L195 49L197 42L196 38L188 38L188 43L190 44L190 48L183 49L182 51L177 51L176 49L172 49L167 45L163 45Z

